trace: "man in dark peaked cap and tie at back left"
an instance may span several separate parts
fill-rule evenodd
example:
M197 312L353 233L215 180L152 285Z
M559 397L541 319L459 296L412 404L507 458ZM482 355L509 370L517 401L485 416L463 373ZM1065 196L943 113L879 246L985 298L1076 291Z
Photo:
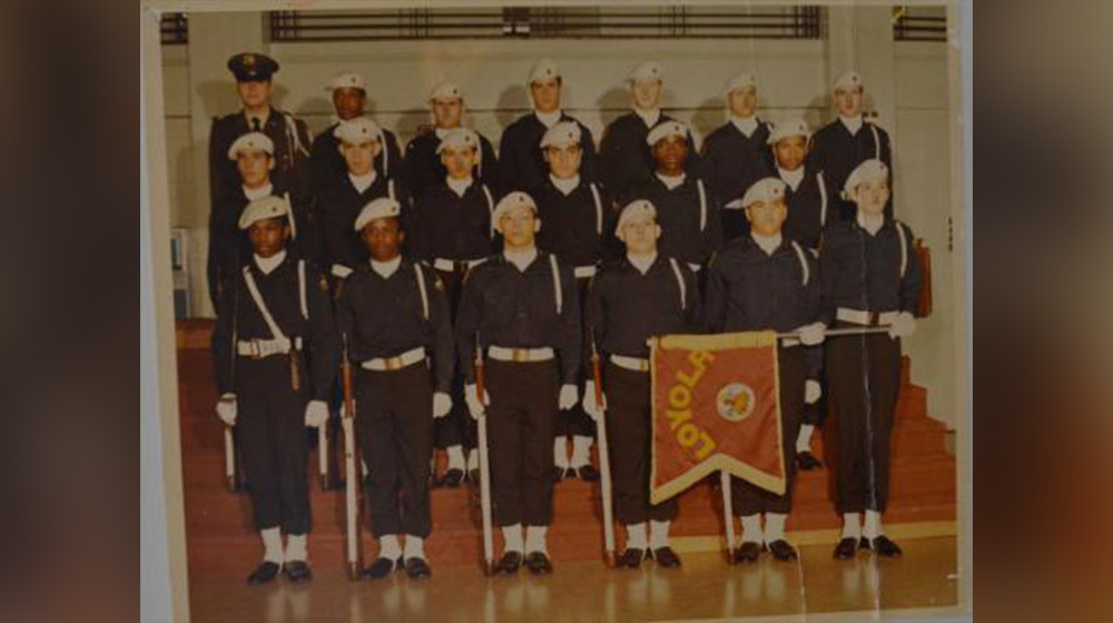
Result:
M220 204L239 186L236 167L225 157L232 144L247 132L267 135L274 144L275 184L289 189L294 199L305 202L311 195L307 161L312 137L305 121L270 105L272 76L278 63L256 53L228 59L228 70L236 77L236 91L243 109L213 120L209 132L209 191L211 205Z

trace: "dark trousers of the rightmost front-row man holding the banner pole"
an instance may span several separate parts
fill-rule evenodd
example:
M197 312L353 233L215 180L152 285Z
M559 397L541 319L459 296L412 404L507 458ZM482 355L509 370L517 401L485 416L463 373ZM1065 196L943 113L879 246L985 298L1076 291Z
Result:
M840 512L884 513L889 496L893 421L900 389L900 340L883 333L833 337L826 346L838 437Z

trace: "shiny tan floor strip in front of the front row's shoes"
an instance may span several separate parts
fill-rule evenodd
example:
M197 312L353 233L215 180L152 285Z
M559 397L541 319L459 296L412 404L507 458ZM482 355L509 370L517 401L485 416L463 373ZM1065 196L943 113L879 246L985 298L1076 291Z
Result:
M190 577L193 620L209 621L662 621L933 609L958 597L954 537L902 542L905 556L831 560L830 545L800 547L797 564L764 556L731 567L717 554L687 554L681 570L652 564L608 571L601 563L558 563L545 577L482 576L467 566L349 583L317 566L308 586L244 584L248 568ZM857 616L850 615L850 619Z

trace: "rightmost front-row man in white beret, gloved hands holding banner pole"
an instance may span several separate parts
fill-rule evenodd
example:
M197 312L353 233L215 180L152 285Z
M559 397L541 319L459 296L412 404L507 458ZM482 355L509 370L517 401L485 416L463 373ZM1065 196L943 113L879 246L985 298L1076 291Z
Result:
M856 550L900 555L881 531L889 493L889 445L900 388L900 338L916 330L919 264L912 230L886 216L889 168L866 160L844 190L857 206L853 220L828 228L819 255L825 322L838 327L888 326L886 333L833 337L827 380L838 431L838 506L843 537L835 557ZM865 525L859 525L865 513Z

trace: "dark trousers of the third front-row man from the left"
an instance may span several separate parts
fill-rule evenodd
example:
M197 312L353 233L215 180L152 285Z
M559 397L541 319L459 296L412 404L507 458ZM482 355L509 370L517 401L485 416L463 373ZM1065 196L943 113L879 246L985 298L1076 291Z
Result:
M554 360L486 360L491 485L499 525L549 525L560 378Z

